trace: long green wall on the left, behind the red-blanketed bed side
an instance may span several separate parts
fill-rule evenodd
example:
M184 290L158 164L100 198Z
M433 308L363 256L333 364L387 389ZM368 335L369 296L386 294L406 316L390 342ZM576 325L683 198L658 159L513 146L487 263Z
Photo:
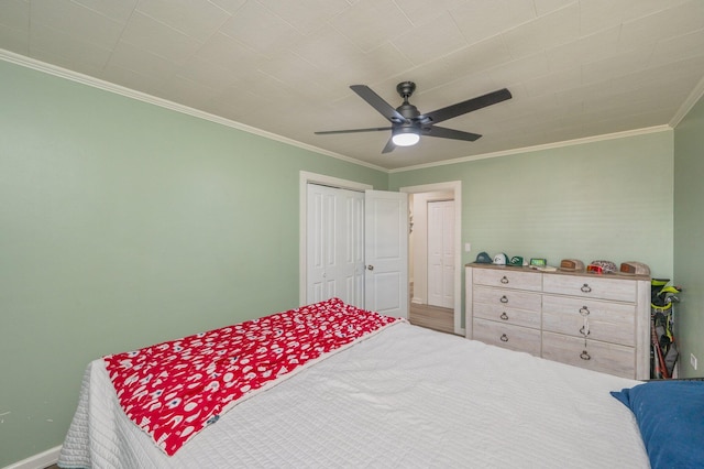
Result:
M88 361L298 304L308 171L387 174L0 61L0 467Z

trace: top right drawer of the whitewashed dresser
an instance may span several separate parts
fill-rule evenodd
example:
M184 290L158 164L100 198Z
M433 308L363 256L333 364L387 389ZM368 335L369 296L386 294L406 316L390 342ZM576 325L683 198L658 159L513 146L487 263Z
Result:
M636 299L636 282L620 279L604 279L597 275L551 275L542 279L546 293L583 296L587 298L631 302Z

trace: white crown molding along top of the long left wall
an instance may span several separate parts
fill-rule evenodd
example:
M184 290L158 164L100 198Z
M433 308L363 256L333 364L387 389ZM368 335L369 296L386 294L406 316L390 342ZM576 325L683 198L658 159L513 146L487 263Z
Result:
M176 112L182 112L188 116L193 116L198 119L208 120L210 122L219 123L221 126L230 127L232 129L241 130L243 132L252 133L254 135L263 137L268 140L274 140L276 142L285 143L287 145L297 146L302 150L307 150L314 153L322 154L326 156L331 156L337 160L342 160L348 163L353 163L360 166L365 166L372 170L381 171L387 173L388 170L366 163L360 160L355 160L350 156L345 156L336 152L331 152L328 150L319 149L318 146L309 145L307 143L299 142L297 140L288 139L286 137L278 135L276 133L267 132L262 129L257 129L255 127L246 126L241 122L237 122L230 119L222 118L220 116L215 116L209 112L200 111L198 109L190 108L188 106L179 105L177 102L169 101L167 99L157 98L156 96L147 95L146 92L136 91L131 88L127 88L124 86L116 85L110 81L102 80L100 78L91 77L89 75L84 75L78 72L73 72L57 65L47 64L45 62L37 61L35 58L31 58L21 54L15 54L10 51L6 51L0 48L0 59L4 62L10 62L15 65L20 65L26 68L32 68L37 72L43 72L48 75L54 75L59 78L65 78L72 81L76 81L82 85L90 86L92 88L98 88L103 91L113 92L116 95L124 96L125 98L136 99L139 101L147 102L150 105L158 106L161 108L169 109Z

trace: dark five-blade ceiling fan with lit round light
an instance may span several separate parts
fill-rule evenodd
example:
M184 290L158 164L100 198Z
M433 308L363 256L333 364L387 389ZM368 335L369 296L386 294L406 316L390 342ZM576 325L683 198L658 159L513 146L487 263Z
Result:
M410 98L416 90L416 84L413 81L402 81L396 86L396 91L398 91L400 97L404 99L403 105L396 109L394 109L366 85L352 85L350 88L360 95L362 99L369 102L382 116L388 119L392 126L374 127L370 129L327 130L315 133L318 135L324 135L331 133L377 132L391 130L392 138L386 143L386 146L384 146L382 153L392 152L396 146L415 145L420 140L420 135L473 142L482 135L477 133L463 132L461 130L447 129L444 127L437 127L436 124L512 98L510 91L504 88L421 114L420 111L418 111L418 108L408 102L408 98Z

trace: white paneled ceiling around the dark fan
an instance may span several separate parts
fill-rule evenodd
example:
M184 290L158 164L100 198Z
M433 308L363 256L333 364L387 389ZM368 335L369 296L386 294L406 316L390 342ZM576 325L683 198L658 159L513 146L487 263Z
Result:
M0 48L384 168L671 124L704 77L702 0L1 0ZM389 132L350 85L476 142Z

